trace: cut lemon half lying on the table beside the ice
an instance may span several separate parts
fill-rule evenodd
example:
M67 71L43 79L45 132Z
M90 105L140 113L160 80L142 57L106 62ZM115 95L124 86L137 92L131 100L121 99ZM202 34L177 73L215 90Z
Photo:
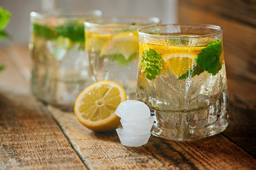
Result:
M116 82L104 80L88 86L80 93L74 112L76 118L87 128L106 131L120 124L120 118L114 112L124 101L124 88Z

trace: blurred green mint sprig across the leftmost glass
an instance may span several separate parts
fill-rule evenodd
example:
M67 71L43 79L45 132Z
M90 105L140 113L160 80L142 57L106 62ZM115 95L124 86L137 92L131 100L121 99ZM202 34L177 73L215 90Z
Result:
M34 33L46 40L54 40L59 36L69 38L73 42L84 42L84 26L76 21L66 22L58 27L49 27L41 24L33 24Z

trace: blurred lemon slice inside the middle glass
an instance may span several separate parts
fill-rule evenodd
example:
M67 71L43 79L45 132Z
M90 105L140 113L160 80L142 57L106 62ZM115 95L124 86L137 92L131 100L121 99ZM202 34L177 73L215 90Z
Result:
M122 54L125 59L139 51L139 39L137 33L123 33L113 35L112 39L103 45L100 56Z

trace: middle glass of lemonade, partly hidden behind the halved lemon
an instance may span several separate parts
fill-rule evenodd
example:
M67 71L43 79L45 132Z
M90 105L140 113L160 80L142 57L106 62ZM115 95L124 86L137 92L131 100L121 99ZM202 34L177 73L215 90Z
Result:
M94 81L121 84L128 99L136 99L139 56L138 29L159 24L159 18L103 17L85 22L85 49Z

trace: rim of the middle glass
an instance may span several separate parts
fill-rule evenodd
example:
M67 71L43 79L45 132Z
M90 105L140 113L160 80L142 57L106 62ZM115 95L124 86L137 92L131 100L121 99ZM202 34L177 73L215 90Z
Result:
M110 26L110 25L105 25L102 23L97 23L97 20L124 20L124 19L134 19L136 20L148 20L149 22L146 24L137 24L137 25L132 25L132 24L126 24L127 26L121 25L120 26ZM101 28L120 28L120 29L124 29L124 28L137 28L140 26L152 26L153 25L157 25L160 24L162 22L162 20L160 18L157 17L146 17L146 16L104 16L104 17L99 17L99 18L93 18L90 20L86 20L84 22L84 25L87 27L101 27ZM112 22L115 23L115 22ZM118 24L118 22L116 22L115 24Z

